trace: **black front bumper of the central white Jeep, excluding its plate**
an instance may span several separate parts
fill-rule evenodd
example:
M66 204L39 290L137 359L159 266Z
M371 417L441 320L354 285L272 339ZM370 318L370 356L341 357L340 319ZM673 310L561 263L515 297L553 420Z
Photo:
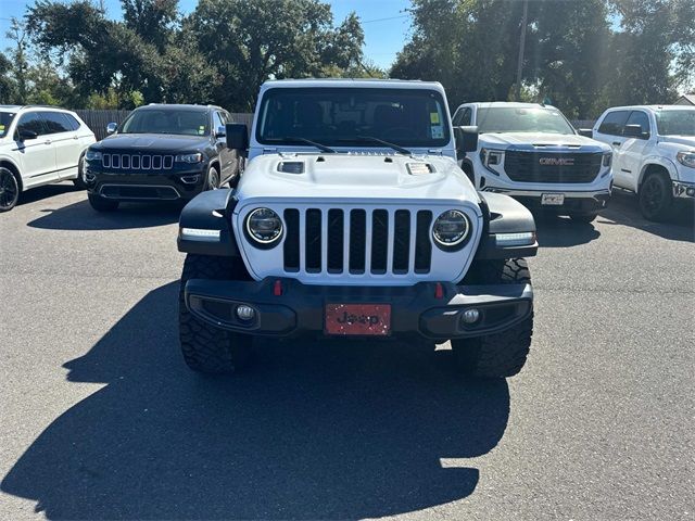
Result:
M278 282L279 281L279 282ZM277 294L278 285L281 294ZM533 308L530 284L456 285L419 282L412 287L308 285L295 279L260 282L191 279L186 283L188 309L214 327L248 334L298 336L325 331L327 304L389 304L391 335L417 334L430 340L482 336L503 331ZM250 305L255 318L242 321L238 305ZM476 308L480 319L464 323L463 312Z

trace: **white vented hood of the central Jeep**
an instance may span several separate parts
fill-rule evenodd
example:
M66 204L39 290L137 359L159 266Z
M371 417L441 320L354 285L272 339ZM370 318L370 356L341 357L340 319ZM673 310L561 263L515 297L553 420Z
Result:
M302 162L304 171L280 171L283 162ZM425 173L412 174L413 165L420 165ZM478 201L470 181L450 157L357 154L257 156L243 173L237 196L240 201L304 198Z

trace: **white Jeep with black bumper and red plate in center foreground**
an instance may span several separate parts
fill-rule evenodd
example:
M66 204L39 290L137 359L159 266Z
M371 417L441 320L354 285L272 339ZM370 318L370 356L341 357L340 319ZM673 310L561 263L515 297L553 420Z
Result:
M249 158L239 185L181 213L188 366L232 372L254 338L313 335L451 340L467 373L517 373L535 225L473 189L454 143L473 150L477 135L456 132L440 84L265 82L251 136L226 127Z

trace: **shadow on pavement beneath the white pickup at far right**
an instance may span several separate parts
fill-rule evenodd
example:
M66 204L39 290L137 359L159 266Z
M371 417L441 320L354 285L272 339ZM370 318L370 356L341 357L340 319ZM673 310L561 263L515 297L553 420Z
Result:
M695 204L691 201L678 203L668 220L654 223L642 217L636 195L614 190L608 207L597 220L603 225L629 226L671 241L695 242Z

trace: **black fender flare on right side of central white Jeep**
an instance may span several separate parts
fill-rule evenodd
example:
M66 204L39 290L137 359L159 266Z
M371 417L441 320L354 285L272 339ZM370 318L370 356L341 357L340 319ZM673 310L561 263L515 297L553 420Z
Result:
M535 240L535 220L531 212L509 195L478 192L483 211L484 226L475 259L506 259L533 257L539 244ZM533 233L533 244L522 246L498 246L497 233Z

